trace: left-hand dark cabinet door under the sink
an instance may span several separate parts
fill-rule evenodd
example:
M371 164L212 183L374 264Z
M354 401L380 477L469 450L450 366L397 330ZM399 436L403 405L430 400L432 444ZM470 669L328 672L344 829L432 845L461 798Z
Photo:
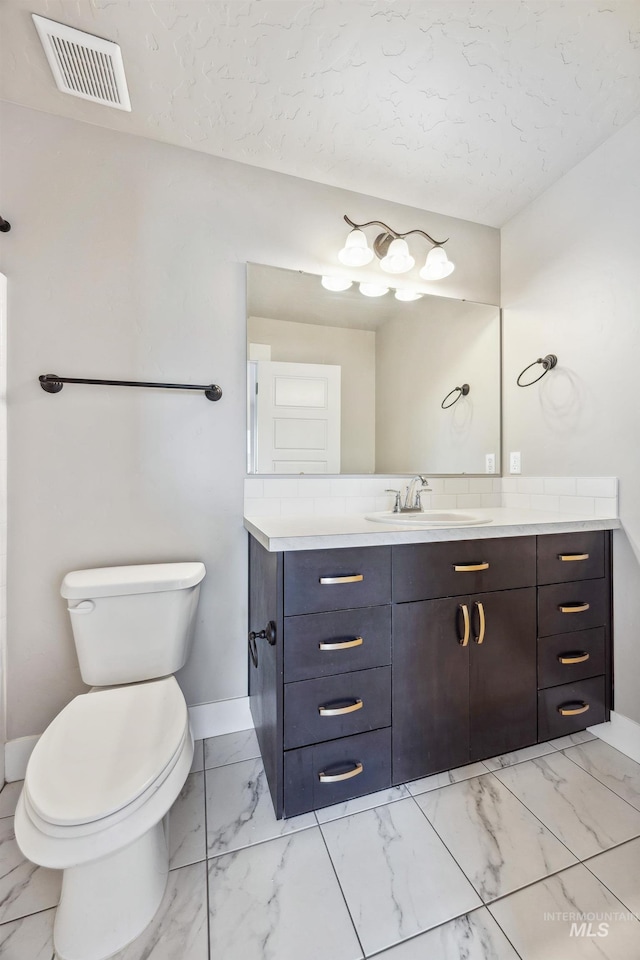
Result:
M469 604L456 597L393 608L394 783L469 761L469 645L460 642ZM534 672L534 708L535 686Z

